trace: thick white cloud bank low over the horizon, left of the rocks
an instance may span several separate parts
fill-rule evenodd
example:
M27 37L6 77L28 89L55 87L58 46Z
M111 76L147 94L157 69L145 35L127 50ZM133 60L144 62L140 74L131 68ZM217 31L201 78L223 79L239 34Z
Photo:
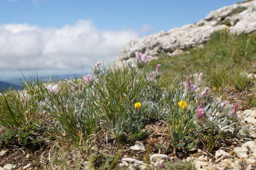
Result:
M61 28L0 25L0 70L77 69L111 61L141 31L100 31L89 20Z

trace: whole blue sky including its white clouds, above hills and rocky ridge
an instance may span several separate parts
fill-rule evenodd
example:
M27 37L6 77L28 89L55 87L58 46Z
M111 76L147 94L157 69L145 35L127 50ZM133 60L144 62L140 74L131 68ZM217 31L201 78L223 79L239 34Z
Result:
M194 24L239 0L0 0L3 77L89 72L129 41Z

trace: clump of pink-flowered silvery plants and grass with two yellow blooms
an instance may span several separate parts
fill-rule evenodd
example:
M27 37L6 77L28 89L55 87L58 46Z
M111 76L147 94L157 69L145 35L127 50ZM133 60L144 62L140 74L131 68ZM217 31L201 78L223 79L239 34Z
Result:
M203 73L163 87L160 86L164 75L161 64L156 64L154 71L146 72L142 68L151 56L138 51L135 55L137 68L104 68L97 62L92 73L81 79L47 85L38 82L33 88L26 87L27 98L36 106L34 112L42 111L51 118L48 122L51 137L89 152L98 135L119 142L145 139L152 133L145 127L154 120L167 127L168 133L164 134L170 139L168 147L187 152L191 147L211 141L206 135L249 132L247 126L238 129L239 105L222 101L222 97L214 98ZM34 95L34 91L38 93ZM13 103L7 101L6 108L10 104ZM16 111L2 111L0 121L13 122L15 127L19 124L17 120L25 122L26 110L17 112L16 117L6 116ZM210 145L209 151L212 148Z

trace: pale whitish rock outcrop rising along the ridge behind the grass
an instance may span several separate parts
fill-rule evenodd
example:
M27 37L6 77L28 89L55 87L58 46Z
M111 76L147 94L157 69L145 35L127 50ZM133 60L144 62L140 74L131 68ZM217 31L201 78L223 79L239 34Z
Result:
M218 30L228 29L230 33L246 34L256 30L256 0L237 3L211 11L204 20L173 28L168 32L132 40L121 49L120 61L134 60L135 51L158 56L166 52L169 56L206 42L210 35Z

